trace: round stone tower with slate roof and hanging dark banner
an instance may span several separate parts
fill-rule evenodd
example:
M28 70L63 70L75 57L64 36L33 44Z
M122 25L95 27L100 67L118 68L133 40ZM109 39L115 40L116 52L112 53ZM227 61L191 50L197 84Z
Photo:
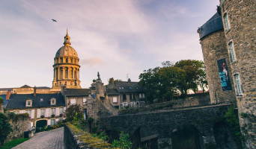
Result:
M204 25L198 28L198 33L206 66L211 103L219 104L227 101L236 101L222 16L219 13L215 13ZM221 65L223 63L226 65L220 66L220 70L219 61ZM223 71L227 72L226 74L224 73L225 77L222 77Z

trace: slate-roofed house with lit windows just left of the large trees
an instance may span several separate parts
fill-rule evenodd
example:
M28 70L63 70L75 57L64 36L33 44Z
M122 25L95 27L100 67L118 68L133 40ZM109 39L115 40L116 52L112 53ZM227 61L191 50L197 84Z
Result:
M111 103L118 109L124 107L140 107L145 104L145 89L138 85L138 82L114 81L114 78L109 79L109 84L106 86Z

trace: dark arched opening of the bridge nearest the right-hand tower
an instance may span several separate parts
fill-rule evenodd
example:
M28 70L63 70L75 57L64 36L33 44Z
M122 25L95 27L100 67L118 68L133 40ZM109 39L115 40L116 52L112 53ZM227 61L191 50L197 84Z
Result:
M231 131L225 122L220 121L213 126L216 149L237 149L237 144L232 139Z

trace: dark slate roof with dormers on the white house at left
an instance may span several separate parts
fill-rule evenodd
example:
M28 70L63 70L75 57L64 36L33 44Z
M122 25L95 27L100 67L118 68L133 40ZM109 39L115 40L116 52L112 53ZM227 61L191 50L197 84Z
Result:
M40 99L43 99L41 101ZM56 104L51 105L50 101L52 98L56 99ZM25 107L25 101L27 99L32 100L32 107ZM61 93L56 94L37 94L34 97L33 94L12 94L10 95L10 101L6 106L6 109L25 109L33 107L59 107L65 106L64 96Z

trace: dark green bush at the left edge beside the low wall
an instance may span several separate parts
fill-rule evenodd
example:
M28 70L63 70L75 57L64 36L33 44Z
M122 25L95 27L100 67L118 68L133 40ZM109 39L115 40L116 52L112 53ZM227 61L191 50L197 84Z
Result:
M10 127L10 123L7 121L7 117L0 113L0 142L1 146L4 145L4 140L8 136L8 134L12 131Z

